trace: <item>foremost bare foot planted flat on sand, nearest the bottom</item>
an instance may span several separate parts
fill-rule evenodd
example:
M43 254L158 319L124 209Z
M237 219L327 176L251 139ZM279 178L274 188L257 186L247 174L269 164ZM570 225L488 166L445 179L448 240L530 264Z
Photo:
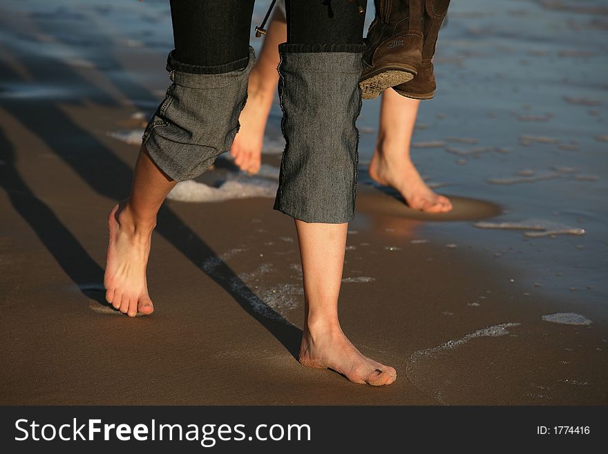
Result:
M339 327L318 333L311 334L305 328L300 347L300 362L304 366L332 369L354 383L372 386L390 385L397 379L394 368L365 357Z

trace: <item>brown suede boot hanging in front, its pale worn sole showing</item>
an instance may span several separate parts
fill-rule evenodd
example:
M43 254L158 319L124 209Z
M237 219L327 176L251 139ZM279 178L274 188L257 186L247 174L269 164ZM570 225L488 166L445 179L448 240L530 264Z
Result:
M359 79L364 100L416 75L422 61L423 1L374 0L376 17L365 38L365 69Z

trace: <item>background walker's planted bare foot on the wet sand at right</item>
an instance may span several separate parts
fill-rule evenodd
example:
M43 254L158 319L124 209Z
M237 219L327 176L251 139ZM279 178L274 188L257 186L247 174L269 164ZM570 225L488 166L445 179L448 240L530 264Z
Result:
M452 209L450 199L440 196L426 185L409 155L403 151L389 154L383 150L383 146L378 145L370 162L369 173L375 182L397 189L412 209L426 213L445 213Z

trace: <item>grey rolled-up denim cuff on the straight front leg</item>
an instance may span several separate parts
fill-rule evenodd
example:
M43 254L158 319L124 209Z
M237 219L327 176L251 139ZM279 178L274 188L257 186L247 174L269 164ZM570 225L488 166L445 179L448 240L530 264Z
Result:
M309 51L293 51L302 48ZM281 129L286 145L274 209L307 223L348 223L357 198L355 122L361 111L362 48L321 48L280 47Z

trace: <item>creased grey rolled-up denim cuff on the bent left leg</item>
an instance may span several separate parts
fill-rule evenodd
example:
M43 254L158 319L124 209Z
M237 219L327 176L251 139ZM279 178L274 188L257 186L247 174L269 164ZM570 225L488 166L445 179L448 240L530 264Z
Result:
M173 84L146 126L142 141L169 178L178 182L195 178L229 151L247 101L247 81L255 60L254 49L249 48L245 68L227 73L184 73L173 62L167 65Z

